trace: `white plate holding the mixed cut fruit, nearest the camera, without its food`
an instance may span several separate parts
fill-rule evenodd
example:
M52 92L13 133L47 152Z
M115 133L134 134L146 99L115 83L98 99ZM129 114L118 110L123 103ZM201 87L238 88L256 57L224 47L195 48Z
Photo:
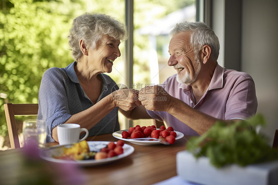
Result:
M99 151L101 148L106 147L106 145L109 142L110 141L87 141L90 151ZM43 150L40 156L47 161L56 162L56 163L75 163L81 166L95 166L95 165L110 163L122 159L134 152L134 147L126 143L124 144L123 149L124 149L123 154L120 154L115 157L109 157L109 158L99 159L99 160L88 159L88 160L71 161L71 160L62 160L62 159L53 158L52 156L59 156L63 153L63 147L54 147L51 149Z

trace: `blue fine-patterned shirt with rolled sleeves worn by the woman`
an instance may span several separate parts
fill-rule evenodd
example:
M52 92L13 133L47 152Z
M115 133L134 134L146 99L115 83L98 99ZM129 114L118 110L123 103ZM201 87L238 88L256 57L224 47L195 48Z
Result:
M53 142L52 129L65 123L72 115L93 106L93 102L84 92L74 70L72 62L66 68L52 67L43 75L39 91L39 111L37 119L46 121L46 142ZM96 102L118 90L116 83L105 74L102 79L102 90ZM93 84L92 84L93 88ZM109 112L89 130L89 136L113 133L120 130L118 107Z

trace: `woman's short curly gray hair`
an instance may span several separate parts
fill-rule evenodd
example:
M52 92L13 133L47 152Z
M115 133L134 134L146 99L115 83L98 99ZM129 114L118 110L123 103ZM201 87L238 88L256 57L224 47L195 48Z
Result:
M109 15L85 13L76 17L68 36L73 59L78 61L83 55L79 47L80 39L85 41L86 46L93 49L103 35L109 35L121 41L128 38L126 26Z

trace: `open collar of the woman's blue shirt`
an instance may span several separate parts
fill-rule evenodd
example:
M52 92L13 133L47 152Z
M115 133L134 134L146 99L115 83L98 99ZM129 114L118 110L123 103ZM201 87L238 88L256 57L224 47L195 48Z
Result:
M76 72L74 70L74 66L77 64L76 61L72 62L71 64L69 64L65 70L66 70L66 73L68 75L68 77L70 78L70 80L74 83L78 83L80 84L79 80L78 80L78 77L76 75ZM111 78L105 78L104 77L104 74L99 74L101 79L102 79L102 83L103 83L103 87L104 88L107 88L107 85L112 83L112 79Z

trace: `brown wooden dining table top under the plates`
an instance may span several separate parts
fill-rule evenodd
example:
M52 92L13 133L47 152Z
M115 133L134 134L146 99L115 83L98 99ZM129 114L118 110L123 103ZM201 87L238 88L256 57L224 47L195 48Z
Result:
M176 155L186 149L189 138L185 136L170 145L139 145L125 141L126 144L134 147L134 152L111 163L80 167L84 178L83 183L85 185L152 185L177 176ZM87 140L117 141L118 139L112 134L105 134L89 137ZM50 145L55 144L58 143L50 143ZM8 161L15 158L20 150L22 148L0 151L0 165L5 161L4 164L9 166ZM0 170L3 170L2 168L0 167Z

